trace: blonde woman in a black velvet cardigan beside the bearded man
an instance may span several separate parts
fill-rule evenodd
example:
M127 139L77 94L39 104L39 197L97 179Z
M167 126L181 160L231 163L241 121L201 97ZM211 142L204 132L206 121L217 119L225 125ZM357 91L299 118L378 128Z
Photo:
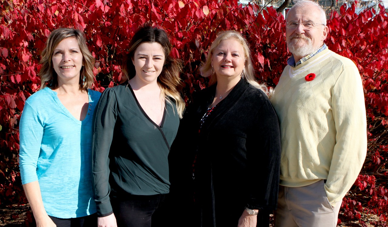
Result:
M268 226L279 187L279 122L267 88L255 82L246 40L219 34L201 71L211 86L193 94L170 153L171 193L185 211L178 225Z

